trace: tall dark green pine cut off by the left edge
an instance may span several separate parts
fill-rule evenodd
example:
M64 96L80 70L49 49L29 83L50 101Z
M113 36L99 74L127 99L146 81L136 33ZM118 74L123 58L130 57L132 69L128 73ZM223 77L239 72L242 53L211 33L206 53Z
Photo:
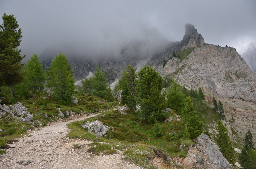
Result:
M13 15L4 13L2 19L3 24L0 25L0 86L13 86L23 80L21 60L25 56L21 56L21 50L18 49L22 34L18 21ZM0 109L16 118L11 111L2 107L1 102L4 99L4 97L0 99Z

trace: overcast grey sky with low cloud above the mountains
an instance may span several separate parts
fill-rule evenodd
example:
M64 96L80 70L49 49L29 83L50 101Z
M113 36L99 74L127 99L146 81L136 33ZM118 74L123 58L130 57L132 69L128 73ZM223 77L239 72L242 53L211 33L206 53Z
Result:
M22 54L49 47L93 52L157 29L180 41L193 24L205 43L244 52L256 41L255 0L0 0L0 14L13 14L22 29ZM2 19L0 20L2 24Z

